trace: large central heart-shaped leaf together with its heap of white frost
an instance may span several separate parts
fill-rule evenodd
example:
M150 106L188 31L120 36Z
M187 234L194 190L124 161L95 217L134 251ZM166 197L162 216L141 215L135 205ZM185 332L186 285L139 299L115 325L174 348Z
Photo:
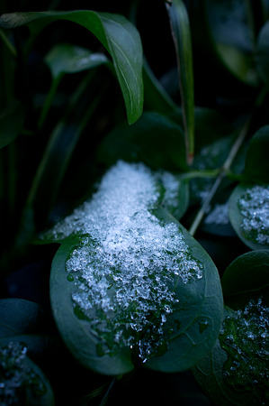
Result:
M69 236L52 264L54 317L71 353L95 372L125 374L139 363L182 371L218 337L218 271L175 217L154 208L158 195L145 166L119 163L56 228Z

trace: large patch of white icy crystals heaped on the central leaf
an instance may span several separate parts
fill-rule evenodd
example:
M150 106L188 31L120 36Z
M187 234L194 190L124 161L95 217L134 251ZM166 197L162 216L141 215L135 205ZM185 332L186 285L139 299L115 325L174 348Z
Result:
M168 180L173 198L176 185ZM74 282L76 316L98 337L98 355L129 346L146 361L163 351L177 283L202 278L202 264L178 224L154 215L160 193L146 166L119 161L92 200L53 230L55 236L81 235L67 260L67 279Z

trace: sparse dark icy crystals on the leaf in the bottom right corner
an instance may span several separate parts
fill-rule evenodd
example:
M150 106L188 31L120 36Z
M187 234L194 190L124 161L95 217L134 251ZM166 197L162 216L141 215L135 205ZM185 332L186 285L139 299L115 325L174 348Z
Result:
M269 308L262 298L225 318L220 345L227 352L223 377L237 392L251 392L264 405L269 391ZM267 395L266 395L267 393Z

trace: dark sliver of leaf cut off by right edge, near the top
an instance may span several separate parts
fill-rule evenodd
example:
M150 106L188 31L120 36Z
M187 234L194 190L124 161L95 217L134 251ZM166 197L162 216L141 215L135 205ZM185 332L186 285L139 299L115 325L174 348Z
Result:
M256 69L263 82L269 84L269 22L265 23L256 42Z

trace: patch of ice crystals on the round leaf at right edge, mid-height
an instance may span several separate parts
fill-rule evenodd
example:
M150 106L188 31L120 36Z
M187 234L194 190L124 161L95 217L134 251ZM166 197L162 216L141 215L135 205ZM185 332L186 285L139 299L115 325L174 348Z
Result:
M243 216L241 229L247 239L261 245L269 244L269 187L254 186L238 200Z

